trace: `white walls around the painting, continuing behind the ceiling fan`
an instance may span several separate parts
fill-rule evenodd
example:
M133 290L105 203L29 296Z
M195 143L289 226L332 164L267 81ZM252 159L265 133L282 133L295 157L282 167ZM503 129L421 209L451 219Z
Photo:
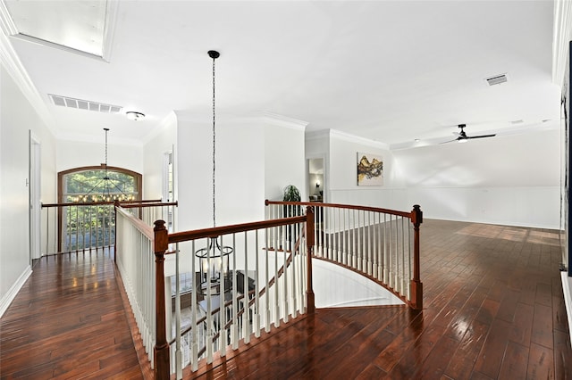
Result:
M554 129L389 151L332 131L309 136L306 154L327 150L327 202L420 204L425 218L559 228L560 138ZM357 152L383 156L383 186L357 186Z

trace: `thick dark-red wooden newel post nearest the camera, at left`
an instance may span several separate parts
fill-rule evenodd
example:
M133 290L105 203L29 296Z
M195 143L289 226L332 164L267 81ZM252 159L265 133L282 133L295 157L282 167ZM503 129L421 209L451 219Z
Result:
M169 343L167 342L167 330L165 321L164 301L164 252L169 247L169 234L164 227L164 220L155 222L155 302L156 302L156 344L155 344L155 378L169 379L171 368L169 365Z

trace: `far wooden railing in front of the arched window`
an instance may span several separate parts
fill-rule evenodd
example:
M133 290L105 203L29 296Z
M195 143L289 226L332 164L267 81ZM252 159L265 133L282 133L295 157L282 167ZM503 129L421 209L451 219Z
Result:
M120 204L149 225L156 219L164 219L169 221L171 230L174 227L177 202L147 200ZM115 244L114 202L42 204L40 226L42 256L109 248Z

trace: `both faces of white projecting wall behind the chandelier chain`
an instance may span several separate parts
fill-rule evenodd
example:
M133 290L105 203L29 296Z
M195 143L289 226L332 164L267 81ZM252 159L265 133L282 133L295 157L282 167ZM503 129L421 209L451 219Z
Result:
M176 115L177 230L212 227L212 121L193 119L185 112ZM282 199L283 186L304 184L304 130L267 118L216 120L216 225L264 220L265 198ZM189 244L180 249L183 254L191 251ZM172 261L165 260L169 275L174 271ZM182 260L181 271L190 271L189 266L190 260Z

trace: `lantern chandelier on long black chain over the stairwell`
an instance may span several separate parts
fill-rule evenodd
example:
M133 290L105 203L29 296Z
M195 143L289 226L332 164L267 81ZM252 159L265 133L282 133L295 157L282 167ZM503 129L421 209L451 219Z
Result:
M216 157L216 131L215 131L215 96L214 96L214 60L221 54L210 50L208 56L213 59L213 227L216 227L216 202L215 202L215 157ZM231 289L229 271L229 255L234 251L232 247L224 246L222 239L209 238L205 248L195 252L200 260L200 289L199 292L206 294L220 294Z

